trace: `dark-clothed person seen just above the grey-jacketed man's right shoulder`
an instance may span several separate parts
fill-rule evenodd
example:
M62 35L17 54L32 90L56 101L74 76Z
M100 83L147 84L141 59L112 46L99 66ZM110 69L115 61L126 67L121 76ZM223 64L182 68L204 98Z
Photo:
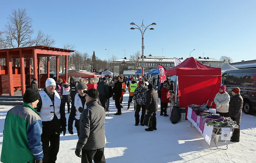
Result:
M103 77L102 81L98 84L98 88L97 90L99 91L99 99L100 99L100 103L101 106L104 108L104 110L106 111L106 102L108 101L108 83L106 82L106 78Z

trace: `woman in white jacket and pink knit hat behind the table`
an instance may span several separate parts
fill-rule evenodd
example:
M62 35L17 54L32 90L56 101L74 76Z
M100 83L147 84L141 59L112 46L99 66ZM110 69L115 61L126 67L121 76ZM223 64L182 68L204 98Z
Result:
M220 116L228 117L228 107L229 107L230 96L226 92L226 86L222 85L219 88L219 92L214 98L214 103L216 104L216 113Z

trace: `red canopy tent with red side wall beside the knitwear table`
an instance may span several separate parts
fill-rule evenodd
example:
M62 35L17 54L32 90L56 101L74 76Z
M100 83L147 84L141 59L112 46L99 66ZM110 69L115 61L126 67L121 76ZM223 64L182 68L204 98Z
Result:
M186 108L186 117L189 105L202 105L209 99L213 101L221 85L221 68L206 66L193 57L165 72L178 76L179 103L180 107Z

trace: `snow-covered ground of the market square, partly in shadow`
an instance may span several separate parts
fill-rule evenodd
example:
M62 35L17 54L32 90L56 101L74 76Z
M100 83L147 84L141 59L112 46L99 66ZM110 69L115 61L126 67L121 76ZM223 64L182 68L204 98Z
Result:
M250 163L256 162L256 114L242 114L240 142L230 142L227 150L211 150L196 128L190 122L172 124L169 117L160 116L160 102L157 111L157 130L145 131L146 126L135 126L133 104L127 110L129 93L124 95L122 115L116 113L115 103L110 99L110 112L105 120L107 144L105 158L107 163ZM3 143L4 119L12 106L0 106L0 148ZM167 114L170 116L170 108ZM141 112L140 112L141 113ZM69 114L66 108L66 118ZM74 123L75 124L75 123ZM74 135L60 136L58 163L77 163L76 128ZM225 144L218 144L224 148ZM214 147L214 145L211 145Z

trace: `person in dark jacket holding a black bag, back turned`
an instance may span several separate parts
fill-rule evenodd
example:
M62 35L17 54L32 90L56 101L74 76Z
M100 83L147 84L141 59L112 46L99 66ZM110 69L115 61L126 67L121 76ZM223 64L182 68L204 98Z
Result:
M151 116L152 126L148 129L145 129L146 131L153 131L156 130L156 111L158 110L158 95L156 91L154 90L153 84L148 84L148 94L146 96L146 111Z

